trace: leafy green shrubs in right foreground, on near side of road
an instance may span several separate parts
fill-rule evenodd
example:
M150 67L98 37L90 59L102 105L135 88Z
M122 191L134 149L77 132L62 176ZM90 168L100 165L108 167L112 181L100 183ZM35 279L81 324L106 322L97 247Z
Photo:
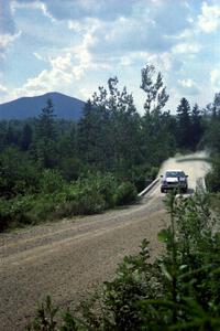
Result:
M219 330L220 233L208 196L167 194L165 204L170 225L158 234L162 256L151 263L143 241L140 254L124 258L77 318L68 311L58 324L56 309L44 307L47 324L40 309L28 330Z

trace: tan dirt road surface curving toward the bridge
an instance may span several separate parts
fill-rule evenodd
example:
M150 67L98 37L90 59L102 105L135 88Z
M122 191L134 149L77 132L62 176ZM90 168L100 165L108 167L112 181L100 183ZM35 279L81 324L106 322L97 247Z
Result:
M167 168L189 174L189 192L209 169L205 154L169 159ZM189 156L188 156L189 158ZM0 235L0 330L23 330L36 302L51 295L64 307L111 280L117 265L150 241L152 257L162 249L157 233L167 224L157 183L139 204Z

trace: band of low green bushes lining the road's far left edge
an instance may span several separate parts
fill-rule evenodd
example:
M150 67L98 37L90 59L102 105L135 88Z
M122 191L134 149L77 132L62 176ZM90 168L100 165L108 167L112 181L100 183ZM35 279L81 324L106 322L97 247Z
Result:
M0 231L24 224L90 215L136 199L136 190L130 182L118 182L112 174L91 174L66 184L54 170L43 171L40 193L16 195L0 200Z

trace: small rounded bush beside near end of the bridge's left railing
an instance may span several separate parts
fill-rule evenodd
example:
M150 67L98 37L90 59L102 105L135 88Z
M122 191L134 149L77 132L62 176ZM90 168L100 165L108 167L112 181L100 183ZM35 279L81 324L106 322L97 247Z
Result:
M124 182L118 186L117 192L114 194L114 204L116 205L124 205L132 203L136 200L136 188L134 184L130 182Z

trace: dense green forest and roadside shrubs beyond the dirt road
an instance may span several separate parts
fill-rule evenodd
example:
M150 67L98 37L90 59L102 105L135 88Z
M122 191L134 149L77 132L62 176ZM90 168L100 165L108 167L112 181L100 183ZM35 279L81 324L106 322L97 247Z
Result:
M0 121L0 228L36 223L135 201L161 162L209 147L220 152L220 94L206 109L180 100L164 110L168 94L154 66L142 70L144 115L118 78L99 87L79 122L57 119L53 100L37 118ZM208 178L219 190L219 158Z

